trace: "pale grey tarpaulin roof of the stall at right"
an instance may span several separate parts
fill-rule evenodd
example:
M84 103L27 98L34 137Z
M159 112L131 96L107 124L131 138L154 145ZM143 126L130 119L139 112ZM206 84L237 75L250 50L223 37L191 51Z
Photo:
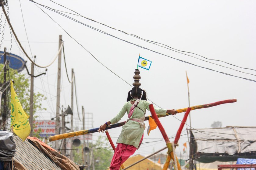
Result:
M247 154L247 156L250 156L251 153L254 153L255 156L256 127L190 129L190 131L192 132L193 154L200 155L197 158L206 154L214 154L211 157L215 157L215 160L218 160L217 157L219 156L223 157L223 155L240 156ZM208 157L208 159L211 158ZM225 159L225 157L222 159ZM231 160L229 159L229 161Z

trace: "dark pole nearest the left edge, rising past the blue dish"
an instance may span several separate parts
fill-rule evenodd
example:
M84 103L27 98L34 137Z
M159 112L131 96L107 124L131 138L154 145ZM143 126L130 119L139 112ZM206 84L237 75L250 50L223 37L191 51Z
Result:
M4 48L4 51L5 51L5 53L4 53L4 64L5 64L5 62L6 62L6 48ZM4 67L4 82L3 82L3 84L4 84L4 87L6 87L6 85L5 85L5 83L6 83L6 65L7 64L5 64L5 67ZM7 120L7 109L6 109L6 106L7 106L7 100L6 100L6 91L7 90L5 90L4 92L3 92L3 100L4 100L4 106L3 106L3 113L2 113L2 119L3 119L3 123L2 123L2 127L3 127L3 131L5 131L6 130L6 120Z

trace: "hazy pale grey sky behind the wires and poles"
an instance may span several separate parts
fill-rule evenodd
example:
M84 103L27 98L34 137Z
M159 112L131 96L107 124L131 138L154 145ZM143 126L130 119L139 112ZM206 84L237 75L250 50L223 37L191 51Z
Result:
M71 12L51 1L36 2L43 3L53 9ZM55 2L69 7L85 17L144 39L161 42L172 48L196 53L209 59L222 60L236 66L256 70L255 1L55 0ZM28 0L9 1L10 21L29 56L31 53L23 25L20 3L32 55L37 56L36 62L44 66L53 60L58 51L59 35L62 35L69 77L71 77L71 68L74 68L76 75L80 117L81 106L83 105L86 112L93 113L94 127L99 127L109 121L123 107L127 92L131 87L98 63L33 2ZM253 108L256 96L255 82L193 66L170 57L252 80L256 80L254 75L235 70L255 75L256 71L241 69L217 61L211 62L235 70L207 63L125 35L85 18L70 15L84 24L170 56L167 57L102 34L43 7L41 8L101 63L130 84L133 83L138 55L151 60L152 64L149 71L140 69L141 88L147 91L151 101L162 108L180 109L188 106L186 70L190 79L191 106L219 100L237 99L236 103L191 111L193 128L210 128L214 121L221 121L222 127L255 126ZM7 47L8 52L10 52L10 31L7 26L4 30L1 50L3 47ZM11 52L27 60L14 41ZM200 56L193 56L204 59ZM30 68L30 62L27 65ZM36 69L36 73L41 72L44 72L44 69ZM27 77L29 76L27 75ZM56 112L57 61L48 68L46 75L35 78L34 81L34 90L47 97L47 100L43 102L43 107L47 108L47 111L38 112L37 115L40 116L41 120L50 119L50 117L55 116ZM66 77L63 58L61 88L61 105L64 107L71 105L71 84ZM74 106L76 106L75 103ZM81 127L82 122L78 120L76 109L74 112L74 126L79 125ZM149 114L148 111L146 115ZM181 120L183 115L178 114L175 117ZM175 136L180 125L180 121L176 118L169 116L160 119L170 137ZM127 116L124 116L122 121L126 119ZM145 124L147 127L148 122ZM116 142L120 131L121 127L109 130L114 142ZM186 134L186 131L183 134ZM105 136L105 134L94 134L94 140L97 140L99 135ZM151 131L150 136L148 136L145 130L144 138L144 142L158 141L162 139L162 135L156 129ZM176 149L177 153L182 151L182 144L186 141L187 135L182 136L179 141L181 146ZM135 154L148 155L153 149L158 150L163 147L165 147L164 141L142 144Z

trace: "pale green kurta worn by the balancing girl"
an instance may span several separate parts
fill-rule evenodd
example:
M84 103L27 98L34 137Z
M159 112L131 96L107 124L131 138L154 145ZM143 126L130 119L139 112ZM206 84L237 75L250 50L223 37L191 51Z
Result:
M150 103L148 103L146 100L140 100L137 107L134 108L133 115L131 116L131 118L144 117L145 116L144 113L146 113L146 109L149 110L149 107L148 107L149 104ZM117 114L116 117L110 120L111 124L115 124L118 121L120 121L125 113L127 113L128 115L131 107L132 107L131 102L130 101L126 102L122 110L119 112L119 114ZM157 114L165 115L166 109L155 108L155 112ZM129 144L138 148L143 132L144 132L144 128L140 126L139 122L129 120L128 122L126 122L125 125L123 125L121 134L119 135L119 138L117 139L116 143Z

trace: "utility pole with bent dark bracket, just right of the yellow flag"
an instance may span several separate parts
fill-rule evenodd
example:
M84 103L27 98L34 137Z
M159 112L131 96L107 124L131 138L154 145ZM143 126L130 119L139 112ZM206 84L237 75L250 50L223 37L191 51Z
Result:
M34 56L36 58L36 56ZM29 103L29 124L30 124L30 134L29 136L33 136L33 106L34 106L34 63L31 63L31 75L30 76L30 103Z

